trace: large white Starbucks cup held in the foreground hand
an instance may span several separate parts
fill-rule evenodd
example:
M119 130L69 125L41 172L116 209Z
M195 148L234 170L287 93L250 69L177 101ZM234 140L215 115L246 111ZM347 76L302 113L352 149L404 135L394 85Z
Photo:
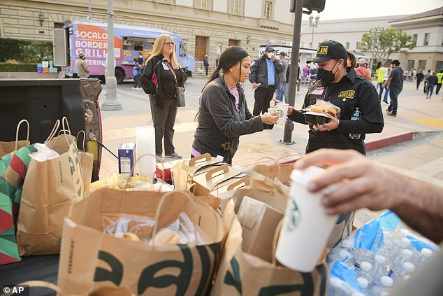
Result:
M279 235L275 258L282 265L299 272L312 272L328 241L337 216L329 216L321 206L321 192L307 191L312 178L323 173L319 167L308 167L291 174L291 190Z

